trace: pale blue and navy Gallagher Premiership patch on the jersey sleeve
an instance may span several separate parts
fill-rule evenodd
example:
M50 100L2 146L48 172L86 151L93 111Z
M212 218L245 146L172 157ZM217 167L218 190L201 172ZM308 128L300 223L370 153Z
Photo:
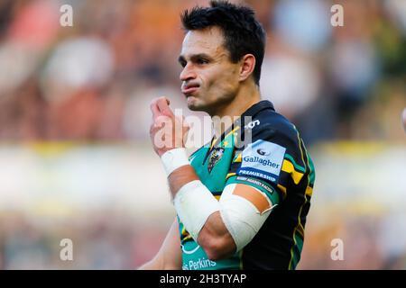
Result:
M278 183L286 148L278 144L256 140L248 145L242 154L242 163L237 175L254 176L272 183Z

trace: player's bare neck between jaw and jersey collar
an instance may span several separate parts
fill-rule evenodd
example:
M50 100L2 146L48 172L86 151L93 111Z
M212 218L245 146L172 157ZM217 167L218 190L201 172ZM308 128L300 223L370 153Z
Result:
M220 137L238 117L260 100L261 95L256 85L242 86L231 103L226 103L224 106L218 107L216 112L210 113L216 138Z

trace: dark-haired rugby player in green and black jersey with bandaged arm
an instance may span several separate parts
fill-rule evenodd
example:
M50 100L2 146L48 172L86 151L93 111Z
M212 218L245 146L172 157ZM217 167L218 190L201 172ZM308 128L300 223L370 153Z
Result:
M239 117L229 127L214 125L220 136L188 157L189 128L168 99L152 101L152 146L177 217L141 269L295 269L315 170L295 126L261 100L265 31L252 9L224 1L187 10L181 21L180 81L189 109ZM171 145L158 145L159 133Z

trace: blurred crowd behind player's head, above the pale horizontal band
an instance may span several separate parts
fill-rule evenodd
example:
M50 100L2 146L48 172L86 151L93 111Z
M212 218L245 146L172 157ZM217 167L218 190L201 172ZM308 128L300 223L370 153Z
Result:
M245 1L268 31L263 98L308 143L399 140L406 3L336 2L343 27L331 25L329 1ZM60 25L62 4L72 27ZM2 0L0 139L145 139L152 97L184 107L179 16L194 4L208 3Z

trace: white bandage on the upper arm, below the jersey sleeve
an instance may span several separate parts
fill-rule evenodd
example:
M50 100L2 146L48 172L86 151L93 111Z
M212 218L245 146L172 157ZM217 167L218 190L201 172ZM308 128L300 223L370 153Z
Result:
M260 213L252 202L233 194L234 189L235 184L226 185L219 203L221 218L233 237L236 252L238 252L258 233L271 213L271 209Z

